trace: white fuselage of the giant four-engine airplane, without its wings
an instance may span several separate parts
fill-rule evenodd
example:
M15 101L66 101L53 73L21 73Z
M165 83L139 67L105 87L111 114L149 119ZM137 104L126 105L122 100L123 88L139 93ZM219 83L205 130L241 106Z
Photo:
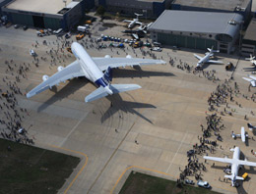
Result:
M85 76L92 82L96 83L97 86L104 87L108 94L112 94L113 92L109 89L109 82L103 77L103 73L99 70L92 57L87 53L82 45L77 42L73 42L71 50L79 61Z

